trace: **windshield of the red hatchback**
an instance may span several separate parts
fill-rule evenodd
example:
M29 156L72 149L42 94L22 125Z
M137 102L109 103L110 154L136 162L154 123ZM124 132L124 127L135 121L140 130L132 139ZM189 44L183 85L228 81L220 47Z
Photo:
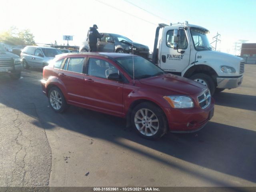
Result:
M133 65L135 79L143 79L165 73L152 62L139 56L120 57L116 58L116 61L118 62L119 66L130 76L130 78L133 78Z

